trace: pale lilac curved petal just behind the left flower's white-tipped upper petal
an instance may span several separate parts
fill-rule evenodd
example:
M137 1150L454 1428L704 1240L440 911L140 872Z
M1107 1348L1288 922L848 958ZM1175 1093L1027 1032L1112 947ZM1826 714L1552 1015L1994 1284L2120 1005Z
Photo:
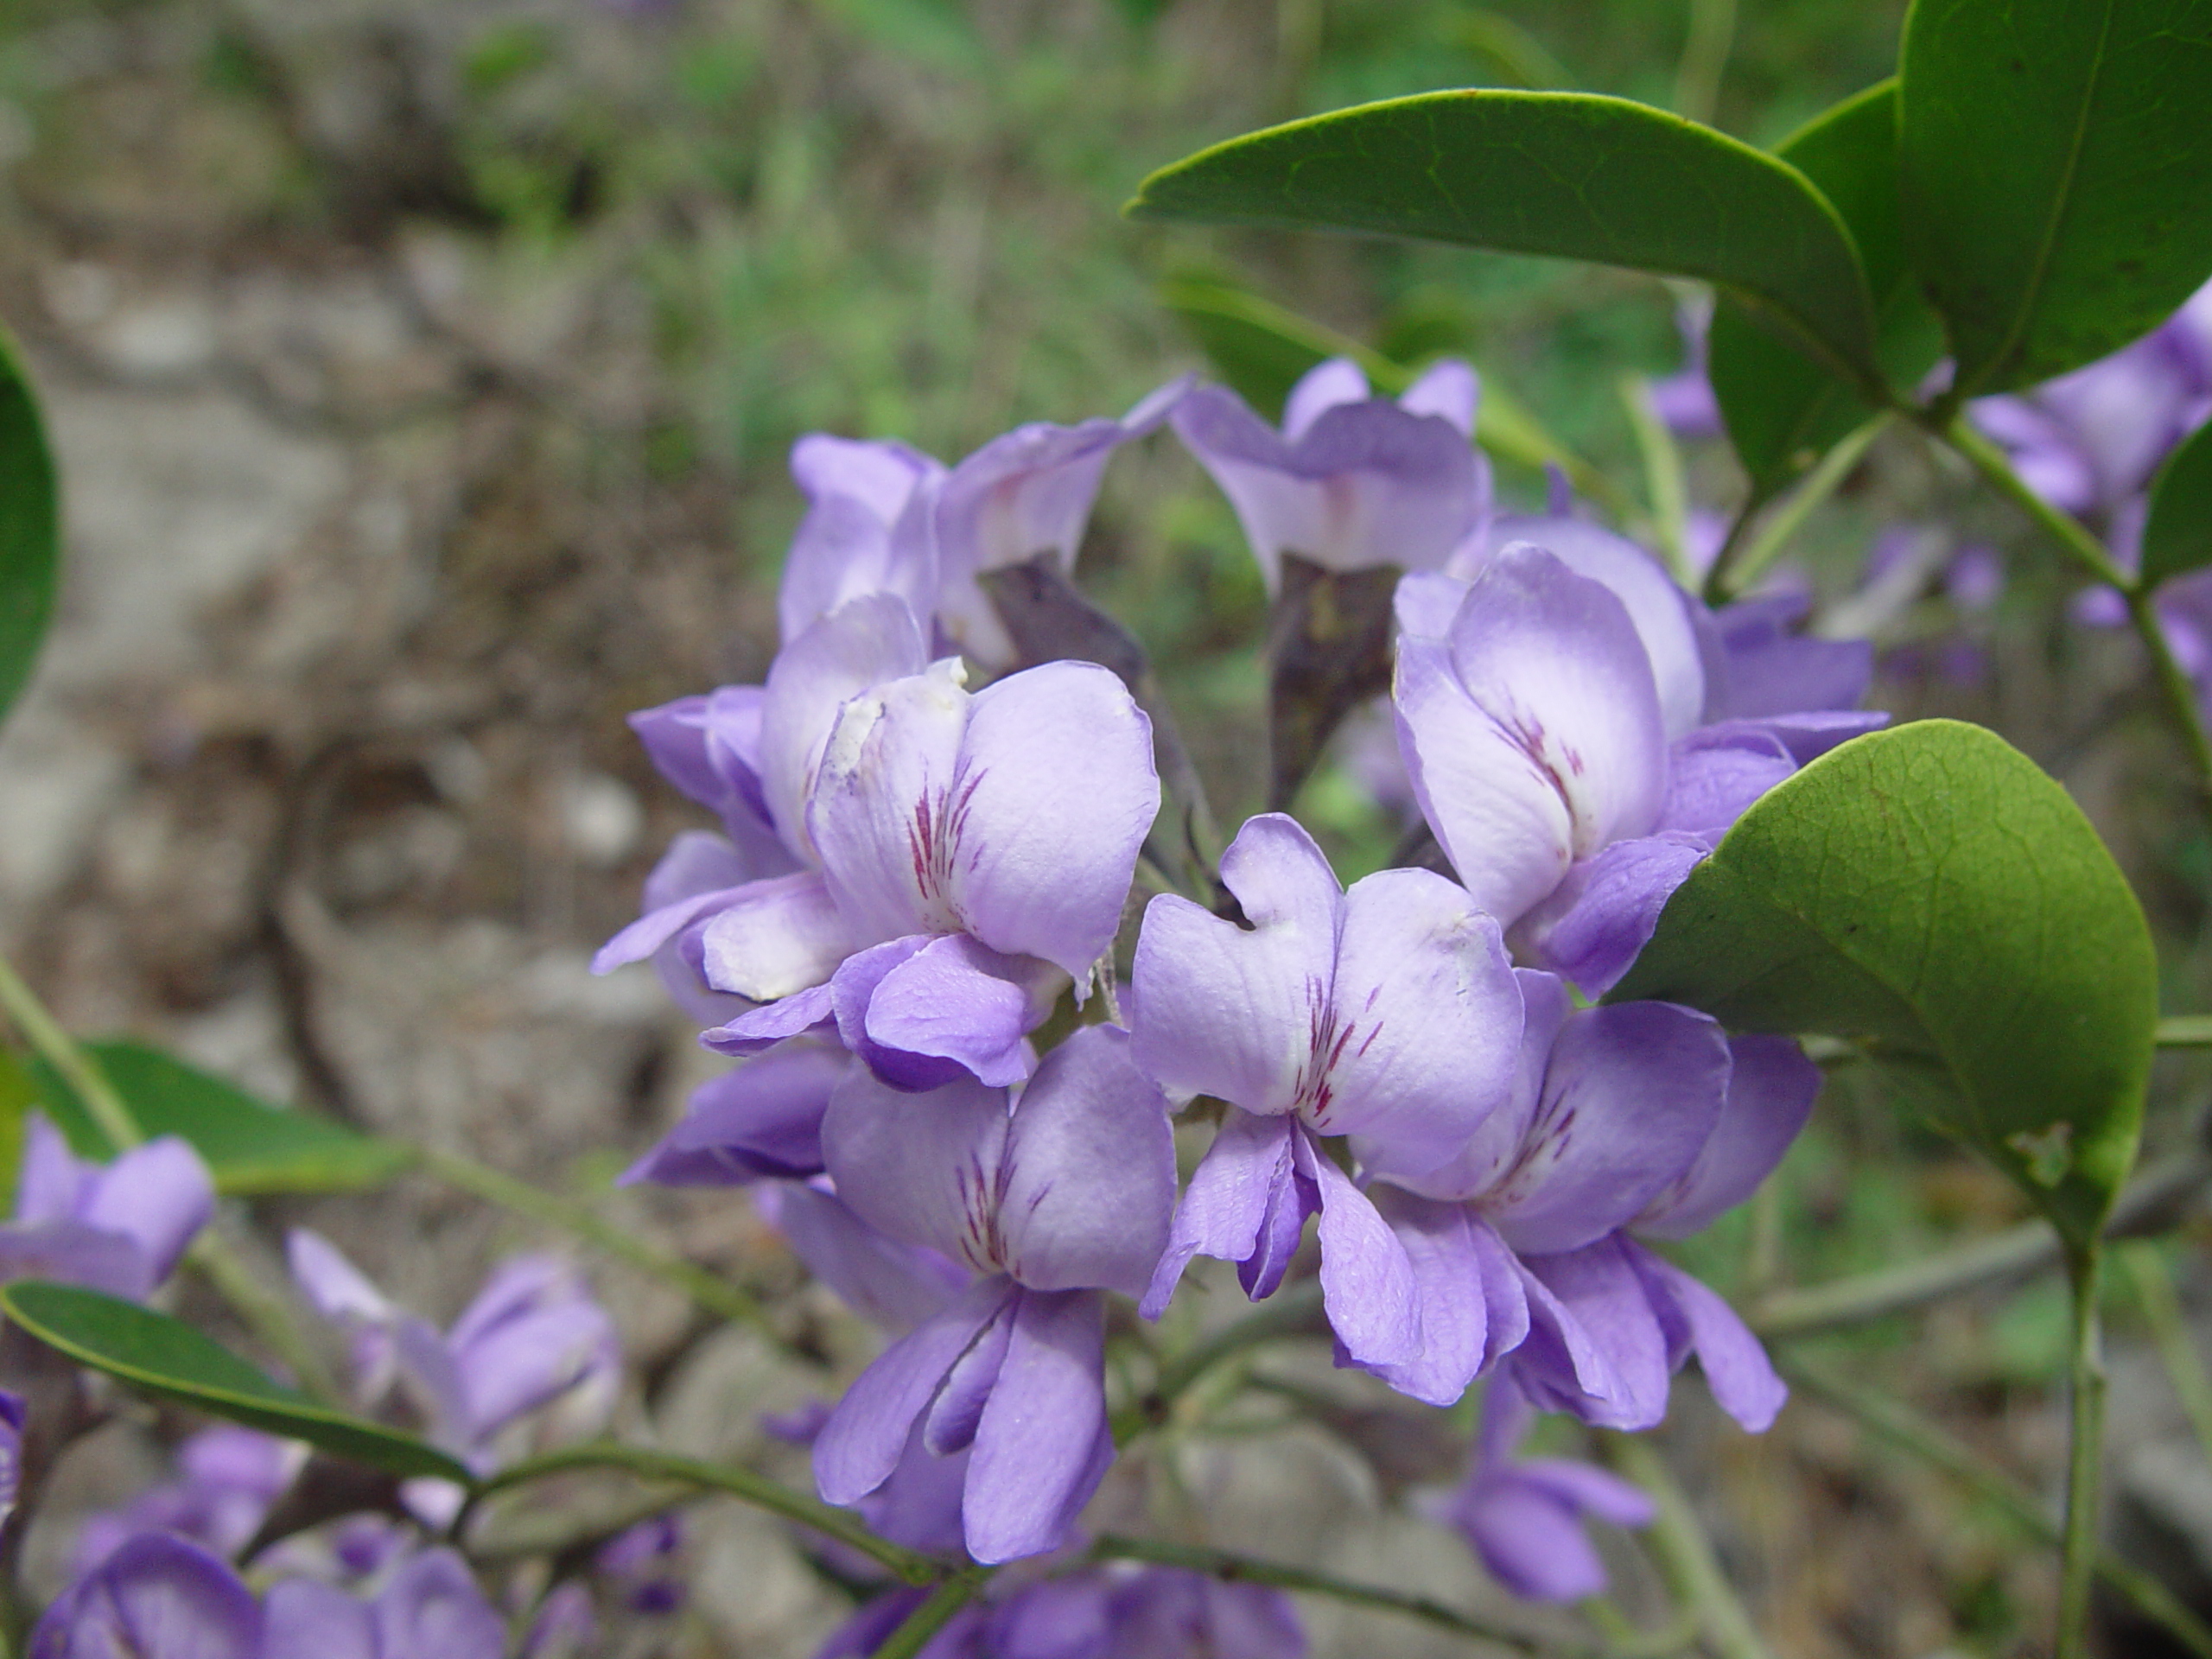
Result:
M807 799L838 710L927 666L922 624L889 593L838 606L776 653L761 706L761 792L776 834L801 863L814 863Z

